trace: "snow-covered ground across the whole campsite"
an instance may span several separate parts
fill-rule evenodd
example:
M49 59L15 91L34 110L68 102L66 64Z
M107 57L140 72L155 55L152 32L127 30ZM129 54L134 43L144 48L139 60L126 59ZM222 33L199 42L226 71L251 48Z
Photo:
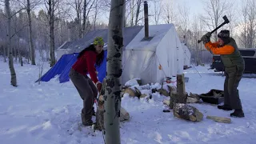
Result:
M0 143L2 144L101 144L102 132L80 126L82 100L71 82L35 83L38 66L14 65L18 87L10 86L7 63L0 62ZM210 89L222 90L224 77L209 66L185 71L189 82L186 91L196 94ZM49 67L48 67L49 68ZM48 70L46 68L46 70ZM255 143L256 140L256 76L242 78L238 87L245 118L231 118L232 123L214 122L207 115L230 118L230 112L207 104L191 104L204 114L202 122L188 122L163 113L165 96L153 94L146 99L122 98L122 106L130 113L130 121L121 122L122 143ZM156 84L155 86L159 86ZM143 91L148 93L149 91Z

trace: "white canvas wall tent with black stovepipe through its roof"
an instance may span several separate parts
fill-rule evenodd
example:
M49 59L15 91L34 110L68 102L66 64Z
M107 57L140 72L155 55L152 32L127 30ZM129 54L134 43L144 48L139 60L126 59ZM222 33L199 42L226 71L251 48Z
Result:
M182 74L184 51L173 24L149 26L150 40L142 40L144 27L123 49L122 84L141 78L142 84L162 82Z

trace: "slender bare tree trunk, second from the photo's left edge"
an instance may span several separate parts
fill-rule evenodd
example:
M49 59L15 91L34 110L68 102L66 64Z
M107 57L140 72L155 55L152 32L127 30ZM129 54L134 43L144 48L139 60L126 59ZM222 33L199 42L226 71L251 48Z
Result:
M29 38L30 38L30 58L31 58L31 65L35 65L35 60L34 60L34 45L33 45L33 40L32 40L32 22L31 22L31 14L30 14L30 0L27 0L27 7L26 7L26 12L29 18Z

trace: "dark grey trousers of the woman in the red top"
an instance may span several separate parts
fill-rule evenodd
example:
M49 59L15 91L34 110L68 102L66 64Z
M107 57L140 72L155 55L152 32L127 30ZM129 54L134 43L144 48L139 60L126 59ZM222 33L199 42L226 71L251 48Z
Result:
M93 114L94 98L97 98L98 90L90 78L73 69L70 70L69 76L83 100L82 115L84 115L84 118L82 119L90 122Z

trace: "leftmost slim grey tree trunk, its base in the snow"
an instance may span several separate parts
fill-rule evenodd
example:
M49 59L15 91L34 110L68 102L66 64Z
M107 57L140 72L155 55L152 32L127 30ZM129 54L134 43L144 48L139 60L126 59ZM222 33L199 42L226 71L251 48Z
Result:
M10 20L11 20L11 15L10 15L10 1L5 0L5 7L6 7L6 16L7 16L7 48L9 50L9 68L10 68L10 84L12 86L17 86L17 79L16 79L16 73L14 70L14 59L13 59L13 54L12 54L12 47L11 47L11 34L10 34Z

